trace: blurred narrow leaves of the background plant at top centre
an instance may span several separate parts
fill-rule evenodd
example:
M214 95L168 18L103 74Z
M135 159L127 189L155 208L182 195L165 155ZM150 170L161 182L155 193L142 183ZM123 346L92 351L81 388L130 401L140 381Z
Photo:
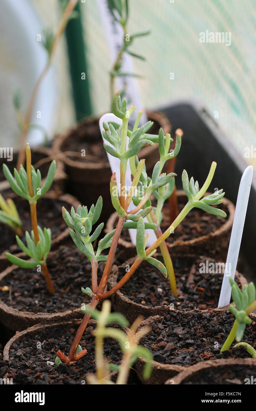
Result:
M141 60L145 60L145 57L142 55L139 55L137 53L134 53L133 51L130 50L131 44L133 44L134 39L142 36L146 36L150 33L150 31L147 32L140 32L136 33L134 35L127 35L127 21L129 17L129 2L128 0L108 0L108 8L115 19L123 28L124 30L124 42L122 44L122 51L130 54L131 56L135 58L139 58ZM111 74L113 76L135 76L138 77L138 75L133 74L133 73L127 73L127 72L122 72L122 61L120 59L120 62L118 63L118 66L114 67L113 71Z

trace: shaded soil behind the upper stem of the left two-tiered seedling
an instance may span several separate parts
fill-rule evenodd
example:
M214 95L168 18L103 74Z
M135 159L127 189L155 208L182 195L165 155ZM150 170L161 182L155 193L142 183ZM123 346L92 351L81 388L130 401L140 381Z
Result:
M14 203L18 210L20 219L22 221L22 231L23 236L21 240L25 243L25 231L32 230L31 219L30 219L30 205L27 200L21 197L15 197ZM66 228L67 224L62 217L62 206L66 207L70 211L70 205L65 201L59 199L48 199L42 197L37 202L37 220L38 225L44 229L50 228L52 240L60 235ZM8 251L12 254L21 252L21 249L16 243L16 233L6 224L0 223L0 254L5 251Z

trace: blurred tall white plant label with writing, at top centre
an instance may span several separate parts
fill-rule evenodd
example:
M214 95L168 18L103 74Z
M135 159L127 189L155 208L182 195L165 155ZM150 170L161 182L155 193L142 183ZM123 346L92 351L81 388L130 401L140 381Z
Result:
M101 14L101 21L105 30L106 40L111 54L111 60L114 63L117 58L118 52L122 47L123 31L108 9L107 0L97 0L97 4L99 7L99 12ZM134 73L132 58L128 53L124 53L122 56L122 67L123 72ZM135 121L138 111L143 110L140 124L145 124L148 121L148 118L145 110L143 109L136 79L131 76L115 77L115 84L117 87L115 92L125 89L127 106L130 106L131 104L134 104L136 106L136 111L133 113L133 115L131 115L131 121Z

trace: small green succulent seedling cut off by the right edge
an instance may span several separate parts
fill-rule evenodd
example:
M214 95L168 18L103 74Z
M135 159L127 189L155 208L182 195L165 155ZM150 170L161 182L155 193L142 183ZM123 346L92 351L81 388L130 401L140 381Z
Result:
M231 304L229 308L235 316L235 322L228 338L221 348L221 353L229 349L234 339L236 339L237 342L242 340L245 327L247 324L251 324L251 319L248 315L256 308L256 292L254 284L252 282L250 282L248 286L244 284L243 289L240 290L232 278L230 278L229 281L232 286L231 295L233 302L236 305L235 308Z

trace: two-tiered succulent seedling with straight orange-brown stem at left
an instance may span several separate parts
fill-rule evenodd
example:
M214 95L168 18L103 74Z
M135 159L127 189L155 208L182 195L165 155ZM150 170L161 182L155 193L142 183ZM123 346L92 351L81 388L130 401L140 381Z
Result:
M18 236L16 236L16 240L22 251L34 261L23 260L10 253L6 254L7 259L12 264L16 264L21 268L35 268L41 266L50 293L54 293L54 287L46 265L46 258L51 248L51 230L46 228L42 230L37 224L37 200L39 200L51 187L55 170L56 162L53 160L49 167L46 180L41 187L41 173L39 169L35 171L34 167L31 165L31 151L28 143L26 146L26 170L21 164L19 172L14 169L14 175L12 175L7 165L3 164L5 178L8 180L12 190L18 196L28 200L30 204L32 231L31 234L29 234L28 231L25 233L27 246L23 244Z

